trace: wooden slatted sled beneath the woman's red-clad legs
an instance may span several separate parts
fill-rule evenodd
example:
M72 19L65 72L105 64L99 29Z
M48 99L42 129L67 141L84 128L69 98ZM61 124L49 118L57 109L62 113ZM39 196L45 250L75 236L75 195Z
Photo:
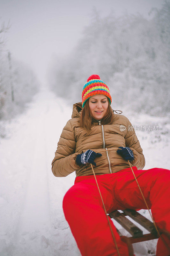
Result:
M132 244L159 238L153 222L146 219L143 215L136 212L135 210L126 209L123 210L122 213L116 210L109 213L109 216L110 218L116 220L131 235L131 237L122 236L120 231L117 229L121 240L128 245L129 256L134 256ZM129 216L131 219L139 223L142 227L147 229L150 233L143 235L143 231L125 216ZM170 239L170 233L168 231L159 229L159 232L160 234L165 234Z

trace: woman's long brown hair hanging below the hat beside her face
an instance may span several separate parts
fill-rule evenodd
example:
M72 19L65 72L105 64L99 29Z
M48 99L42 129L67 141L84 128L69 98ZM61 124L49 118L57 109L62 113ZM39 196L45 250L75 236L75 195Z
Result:
M109 100L107 99L108 103ZM107 113L106 115L101 119L101 124L112 124L113 123L113 110L110 106L110 103L108 104ZM85 128L87 132L89 133L92 126L92 115L90 113L89 108L89 99L86 101L85 106L82 110L81 116L80 116L80 127Z

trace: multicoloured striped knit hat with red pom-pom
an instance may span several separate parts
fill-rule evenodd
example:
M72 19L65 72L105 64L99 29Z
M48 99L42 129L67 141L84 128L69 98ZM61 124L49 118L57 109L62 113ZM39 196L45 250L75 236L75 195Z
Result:
M112 102L112 98L110 95L109 88L107 84L105 84L102 80L100 80L100 76L92 75L87 79L87 83L83 87L82 92L82 107L84 108L85 102L96 94L103 94L107 96L110 104Z

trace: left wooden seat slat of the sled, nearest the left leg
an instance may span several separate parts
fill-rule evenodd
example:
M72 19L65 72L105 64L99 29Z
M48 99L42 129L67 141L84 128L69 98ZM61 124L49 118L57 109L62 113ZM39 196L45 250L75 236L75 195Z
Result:
M123 228L125 228L133 237L143 236L143 231L136 227L133 222L128 220L121 212L114 211L109 214L111 218L116 220Z

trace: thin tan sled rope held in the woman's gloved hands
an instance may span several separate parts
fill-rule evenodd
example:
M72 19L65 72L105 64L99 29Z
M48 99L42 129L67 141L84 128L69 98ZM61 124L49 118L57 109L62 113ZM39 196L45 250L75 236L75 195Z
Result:
M109 150L117 150L117 149L120 149L120 148L111 148L111 149L101 150L101 151L99 151L99 152L97 152L97 153L105 152L105 151L109 151ZM145 198L144 198L144 195L143 195L143 193L142 193L142 190L141 190L141 188L140 188L140 186L139 186L139 183L138 183L138 181L137 181L137 178L136 178L136 176L135 176L135 173L134 173L134 171L133 171L133 169L132 169L132 167L131 167L131 164L130 164L129 160L128 160L128 163L129 163L130 169L131 169L131 171L132 171L132 173L133 173L133 175L134 175L134 177L135 177L135 180L136 180L136 182L137 182L137 185L138 185L138 188L139 188L139 190L140 190L140 192L141 192L141 195L142 195L142 197L143 197L143 199L144 199L144 203L146 204L146 207L147 207L147 209L148 209L148 211L149 211L149 214L150 214L151 219L152 219L152 221L153 221L153 225L155 226L155 229L156 229L156 231L157 231L157 233L158 233L158 236L162 239L162 242L166 245L166 248L167 248L167 249L169 250L169 252L170 252L170 247L169 247L169 245L166 243L166 241L164 240L164 238L163 238L163 237L160 235L160 233L159 233L159 230L158 230L158 228L157 228L157 226L156 226L156 224L155 224L155 221L154 221L154 219L153 219L153 217L152 217L152 214L151 214L151 212L150 212L150 209L149 209L149 207L148 207L148 204L146 203L146 200L145 200ZM92 164L91 164L91 167L92 167ZM112 228L111 228L110 221L109 221L109 219L108 219L108 215L107 215L107 212L106 212L106 208L105 208L105 205L104 205L104 202L103 202L103 198L102 198L101 193L100 193L100 188L99 188L99 185L98 185L98 182L97 182L96 175L95 175L95 173L94 173L93 167L92 167L92 172L93 172L94 178L95 178L95 180L96 180L96 184L97 184L97 187L98 187L98 190L99 190L99 194L100 194L100 197L101 197L101 201L102 201L102 204L103 204L103 207L104 207L106 216L107 216L108 224L109 224L109 227L110 227L110 230L111 230L111 233L112 233L114 242L115 242L116 250L117 250L118 255L120 256L119 249L118 249L118 246L117 246L117 244L116 244L115 236L114 236L114 234L113 234L113 230L112 230Z

